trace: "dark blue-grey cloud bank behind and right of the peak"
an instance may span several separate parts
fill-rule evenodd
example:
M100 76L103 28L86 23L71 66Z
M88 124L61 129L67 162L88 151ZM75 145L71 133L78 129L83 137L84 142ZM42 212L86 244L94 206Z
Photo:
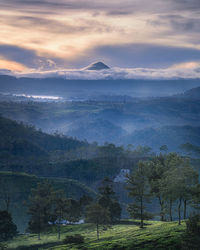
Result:
M200 58L198 49L137 43L98 46L88 54L119 67L164 68Z

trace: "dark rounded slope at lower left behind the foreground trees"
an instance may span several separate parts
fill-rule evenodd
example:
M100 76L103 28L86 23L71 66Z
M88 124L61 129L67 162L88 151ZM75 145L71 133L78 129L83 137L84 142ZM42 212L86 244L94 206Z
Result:
M27 228L27 202L31 189L39 182L49 181L56 189L62 189L67 197L80 198L87 194L94 197L96 193L86 185L66 178L39 178L34 175L14 172L0 172L0 196L5 192L10 196L10 211L18 230L24 232ZM6 209L4 199L0 199L1 210Z

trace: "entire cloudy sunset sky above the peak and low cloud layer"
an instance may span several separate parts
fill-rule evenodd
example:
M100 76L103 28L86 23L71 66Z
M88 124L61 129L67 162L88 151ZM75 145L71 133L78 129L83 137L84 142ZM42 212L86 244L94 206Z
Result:
M0 0L0 69L200 72L200 0Z

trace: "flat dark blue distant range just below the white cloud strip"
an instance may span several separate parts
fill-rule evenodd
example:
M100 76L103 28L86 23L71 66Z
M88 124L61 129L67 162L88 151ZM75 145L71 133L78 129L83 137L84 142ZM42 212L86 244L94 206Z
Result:
M67 99L88 99L88 97L99 95L160 97L177 95L199 86L200 80L198 79L67 80L64 78L16 78L0 75L0 93L59 96Z

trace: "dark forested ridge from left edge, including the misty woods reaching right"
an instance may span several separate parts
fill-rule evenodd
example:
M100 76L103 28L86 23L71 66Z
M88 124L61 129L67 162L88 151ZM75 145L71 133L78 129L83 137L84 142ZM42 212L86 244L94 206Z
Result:
M148 147L98 146L49 135L3 117L0 127L0 171L72 178L93 186L105 176L114 178L120 169L135 167L151 154Z

